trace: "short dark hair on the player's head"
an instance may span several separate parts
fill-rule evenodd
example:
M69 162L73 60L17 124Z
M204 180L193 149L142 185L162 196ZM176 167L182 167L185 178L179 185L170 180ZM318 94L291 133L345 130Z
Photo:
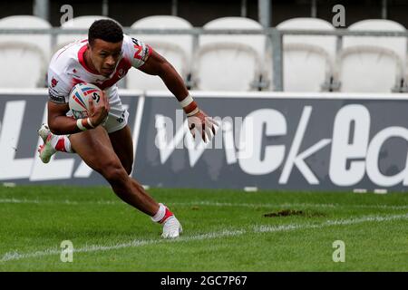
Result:
M111 19L96 20L88 31L88 43L93 43L95 39L102 39L108 43L119 43L123 40L123 30L121 24Z

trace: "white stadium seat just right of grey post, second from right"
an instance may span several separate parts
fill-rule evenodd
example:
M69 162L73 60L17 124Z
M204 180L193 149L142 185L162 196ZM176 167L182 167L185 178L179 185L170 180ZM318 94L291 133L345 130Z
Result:
M293 18L277 25L279 30L335 30L322 19ZM287 92L330 91L334 74L335 36L284 35L283 80ZM268 58L269 59L269 58ZM272 65L268 65L268 68Z

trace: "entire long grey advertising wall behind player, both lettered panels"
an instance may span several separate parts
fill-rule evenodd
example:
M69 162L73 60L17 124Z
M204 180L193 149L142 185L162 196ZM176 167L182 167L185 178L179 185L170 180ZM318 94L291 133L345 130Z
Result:
M195 143L169 92L121 91L132 176L150 187L405 191L408 94L192 92L221 126ZM0 182L106 184L74 154L43 164L47 92L0 91ZM97 152L95 152L97 154Z

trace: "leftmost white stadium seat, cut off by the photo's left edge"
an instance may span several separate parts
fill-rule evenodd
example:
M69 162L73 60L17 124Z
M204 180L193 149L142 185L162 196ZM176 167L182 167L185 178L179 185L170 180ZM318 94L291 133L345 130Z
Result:
M32 15L16 15L0 19L0 28L49 29L51 27L51 24L44 19ZM7 68L0 73L0 87L44 87L46 67L50 57L50 34L0 35L0 59L3 67Z

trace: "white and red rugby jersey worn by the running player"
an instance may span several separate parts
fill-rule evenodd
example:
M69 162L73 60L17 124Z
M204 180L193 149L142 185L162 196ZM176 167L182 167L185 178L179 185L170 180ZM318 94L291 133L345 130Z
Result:
M114 94L109 92L117 90L110 88L119 82L131 67L140 67L151 55L151 46L123 34L121 59L114 72L109 77L104 77L85 64L83 53L87 50L87 44L86 39L70 43L53 55L48 68L48 93L51 102L67 103L69 93L79 82L91 82L100 89L107 90L111 99Z

